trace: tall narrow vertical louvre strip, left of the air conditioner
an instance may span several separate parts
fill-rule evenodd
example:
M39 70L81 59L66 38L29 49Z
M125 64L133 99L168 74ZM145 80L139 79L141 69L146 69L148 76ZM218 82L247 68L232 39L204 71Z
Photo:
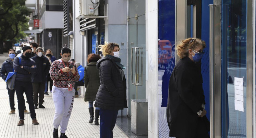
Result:
M63 28L63 37L66 37L69 32L69 2L68 0L63 0L63 13L64 13L64 28Z

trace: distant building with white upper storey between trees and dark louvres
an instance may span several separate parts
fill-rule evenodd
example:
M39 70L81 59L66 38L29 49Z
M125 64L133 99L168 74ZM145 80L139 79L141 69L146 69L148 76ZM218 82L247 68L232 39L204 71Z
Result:
M63 0L27 0L26 7L31 9L30 27L24 31L34 37L44 50L51 49L56 58L60 58L62 45L68 43L63 37ZM38 24L35 26L35 21Z

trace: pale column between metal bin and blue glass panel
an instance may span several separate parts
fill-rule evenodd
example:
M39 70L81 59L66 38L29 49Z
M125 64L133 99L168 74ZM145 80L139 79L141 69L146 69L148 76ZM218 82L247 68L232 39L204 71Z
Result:
M146 0L146 98L148 137L158 137L158 0ZM150 74L150 75L149 75Z

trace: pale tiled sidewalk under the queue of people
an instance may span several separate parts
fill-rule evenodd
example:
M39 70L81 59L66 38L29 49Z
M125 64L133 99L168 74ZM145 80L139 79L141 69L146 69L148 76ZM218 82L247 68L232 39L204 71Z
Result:
M9 115L10 105L6 84L0 78L0 137L1 138L52 138L54 104L52 94L45 95L43 105L45 109L35 109L39 125L33 125L30 114L25 114L23 126L17 126L19 121L18 104L15 94L16 113ZM26 96L24 94L25 101ZM25 103L29 110L28 103ZM74 108L67 127L66 135L68 138L99 138L99 126L89 124L88 102L84 102L84 98L79 96L75 98ZM60 127L59 127L60 132ZM115 126L113 135L115 138L128 138L125 133Z

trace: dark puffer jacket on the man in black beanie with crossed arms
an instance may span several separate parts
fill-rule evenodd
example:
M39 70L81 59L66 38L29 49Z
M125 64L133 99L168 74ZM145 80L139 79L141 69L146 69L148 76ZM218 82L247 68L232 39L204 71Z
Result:
M19 58L15 57L13 60L13 68L17 72L15 81L31 82L31 74L37 71L36 62L33 59L21 56L21 64L19 64ZM23 66L23 68L21 68ZM31 66L34 66L32 68Z

